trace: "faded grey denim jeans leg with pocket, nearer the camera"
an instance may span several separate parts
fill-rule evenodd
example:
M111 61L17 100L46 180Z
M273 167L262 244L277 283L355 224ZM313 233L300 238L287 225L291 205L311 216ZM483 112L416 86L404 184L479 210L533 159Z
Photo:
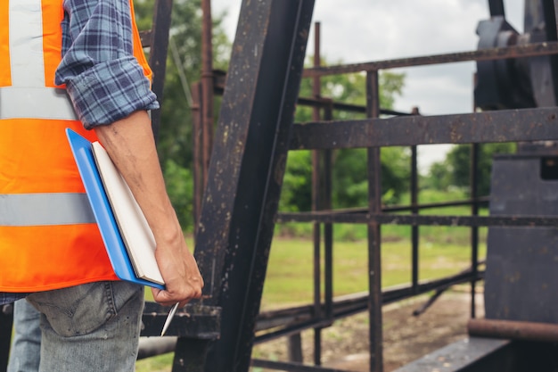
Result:
M29 294L43 332L41 372L132 372L144 287L97 282Z

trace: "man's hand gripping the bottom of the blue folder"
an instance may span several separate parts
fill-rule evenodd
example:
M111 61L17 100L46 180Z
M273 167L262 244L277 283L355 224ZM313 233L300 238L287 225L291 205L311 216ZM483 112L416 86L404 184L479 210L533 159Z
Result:
M187 302L201 297L203 278L182 233L172 244L158 243L155 258L165 280L164 290L152 288L155 302L163 306L179 302L178 306L182 308Z

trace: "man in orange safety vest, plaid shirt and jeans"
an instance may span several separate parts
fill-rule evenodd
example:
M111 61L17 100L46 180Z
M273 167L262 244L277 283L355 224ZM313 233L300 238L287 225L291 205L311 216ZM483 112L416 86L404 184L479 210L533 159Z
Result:
M0 303L30 293L41 370L134 370L143 288L111 269L64 128L99 139L144 211L166 283L155 301L184 306L203 281L165 191L131 4L9 0L0 17Z

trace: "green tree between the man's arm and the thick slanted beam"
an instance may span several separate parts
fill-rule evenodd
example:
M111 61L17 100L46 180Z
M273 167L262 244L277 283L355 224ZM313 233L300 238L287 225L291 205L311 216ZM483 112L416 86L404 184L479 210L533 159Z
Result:
M134 1L139 29L152 28L153 4L154 0ZM201 15L201 0L174 0L157 143L168 194L182 226L189 230L193 228L193 121L185 90L201 78ZM222 18L213 21L213 56L214 67L226 70L231 43L220 26ZM173 45L182 60L178 65L172 58ZM184 72L186 85L180 72Z

